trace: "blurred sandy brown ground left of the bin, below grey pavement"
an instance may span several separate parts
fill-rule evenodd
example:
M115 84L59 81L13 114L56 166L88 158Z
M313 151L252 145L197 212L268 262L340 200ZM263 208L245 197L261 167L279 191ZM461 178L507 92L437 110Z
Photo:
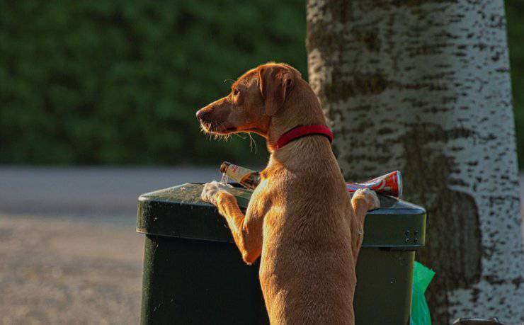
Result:
M143 236L84 220L0 217L1 324L137 324Z

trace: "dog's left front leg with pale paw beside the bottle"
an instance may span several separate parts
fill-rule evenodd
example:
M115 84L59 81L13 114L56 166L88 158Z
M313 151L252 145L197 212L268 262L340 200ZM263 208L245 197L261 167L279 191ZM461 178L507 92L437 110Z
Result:
M261 200L258 194L263 183L251 195L249 206L244 215L237 203L237 198L231 193L217 186L217 183L207 183L202 192L202 199L217 206L231 229L235 244L237 244L242 259L252 264L262 251L262 226L266 214L266 200Z

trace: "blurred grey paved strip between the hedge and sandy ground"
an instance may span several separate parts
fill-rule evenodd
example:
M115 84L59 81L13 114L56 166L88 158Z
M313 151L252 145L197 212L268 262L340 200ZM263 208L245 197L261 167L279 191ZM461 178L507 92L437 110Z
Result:
M0 167L0 210L56 215L134 215L140 193L220 180L215 169Z

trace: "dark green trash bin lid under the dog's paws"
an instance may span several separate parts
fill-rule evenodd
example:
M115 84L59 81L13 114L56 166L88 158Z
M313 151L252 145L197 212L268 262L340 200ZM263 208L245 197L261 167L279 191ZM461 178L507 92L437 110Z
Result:
M138 198L137 232L184 239L234 242L217 208L200 200L203 185L186 183L142 194ZM232 188L241 210L251 190ZM414 250L426 240L426 210L418 205L379 195L380 209L368 212L363 247Z

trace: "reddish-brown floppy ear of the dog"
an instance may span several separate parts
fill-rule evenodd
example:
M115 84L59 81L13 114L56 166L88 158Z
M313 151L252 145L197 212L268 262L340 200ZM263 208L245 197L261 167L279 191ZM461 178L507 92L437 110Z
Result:
M295 84L295 77L289 69L284 67L261 67L258 69L258 86L264 104L266 115L275 115L282 106L285 98Z

